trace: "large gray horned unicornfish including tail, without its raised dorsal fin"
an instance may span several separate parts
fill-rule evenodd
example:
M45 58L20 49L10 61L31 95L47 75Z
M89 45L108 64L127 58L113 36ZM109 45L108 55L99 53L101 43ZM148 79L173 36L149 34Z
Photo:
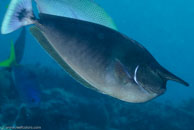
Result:
M105 26L39 14L30 0L12 0L2 33L34 24L31 32L45 50L84 86L123 101L149 101L166 90L168 80L189 84L164 69L138 42Z

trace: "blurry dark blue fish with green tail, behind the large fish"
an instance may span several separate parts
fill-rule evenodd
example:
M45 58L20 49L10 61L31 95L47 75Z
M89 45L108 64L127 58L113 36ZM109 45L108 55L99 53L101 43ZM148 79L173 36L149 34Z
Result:
M29 68L20 65L25 49L26 30L23 29L15 44L11 42L9 59L0 62L0 67L9 69L20 100L27 107L37 107L40 103L39 84L36 75Z

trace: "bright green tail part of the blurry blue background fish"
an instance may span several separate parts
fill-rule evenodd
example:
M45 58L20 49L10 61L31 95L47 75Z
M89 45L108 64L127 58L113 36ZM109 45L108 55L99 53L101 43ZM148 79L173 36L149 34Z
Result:
M15 48L13 41L11 41L11 51L10 51L10 56L9 59L0 62L0 67L11 67L16 64L16 57L15 57Z

